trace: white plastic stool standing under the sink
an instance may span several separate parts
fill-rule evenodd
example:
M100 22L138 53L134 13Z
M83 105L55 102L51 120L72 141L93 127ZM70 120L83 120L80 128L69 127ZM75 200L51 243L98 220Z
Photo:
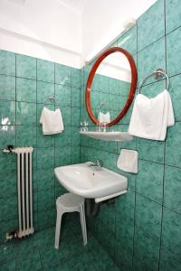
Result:
M72 211L80 212L83 245L86 246L87 245L87 229L86 229L86 220L85 220L85 211L84 211L84 198L72 193L65 193L64 195L62 195L56 200L56 209L57 209L57 220L56 220L56 229L55 229L54 248L57 248L57 249L59 248L62 214L65 212L72 212Z

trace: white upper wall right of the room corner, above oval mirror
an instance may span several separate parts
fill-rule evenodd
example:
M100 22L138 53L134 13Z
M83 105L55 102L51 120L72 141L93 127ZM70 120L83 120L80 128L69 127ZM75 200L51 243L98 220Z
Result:
M119 36L123 22L138 19L156 0L92 0L81 14L82 58L90 59ZM89 11L89 13L87 12Z

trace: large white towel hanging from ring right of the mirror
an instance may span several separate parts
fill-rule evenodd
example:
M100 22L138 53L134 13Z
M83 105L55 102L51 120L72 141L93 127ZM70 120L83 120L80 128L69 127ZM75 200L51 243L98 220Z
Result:
M174 111L170 95L165 89L155 98L138 94L129 123L129 134L164 141L167 126L174 126Z

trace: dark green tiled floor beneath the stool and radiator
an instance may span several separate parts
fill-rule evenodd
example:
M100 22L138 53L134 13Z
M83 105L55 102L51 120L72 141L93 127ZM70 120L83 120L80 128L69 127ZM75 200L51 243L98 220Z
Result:
M0 271L119 271L91 234L88 235L88 245L83 246L81 226L78 223L66 222L65 226L58 250L53 248L54 228L1 245Z

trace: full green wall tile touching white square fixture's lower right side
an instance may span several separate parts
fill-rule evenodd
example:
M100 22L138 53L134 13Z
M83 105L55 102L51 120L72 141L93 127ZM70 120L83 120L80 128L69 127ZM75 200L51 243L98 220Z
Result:
M164 165L138 160L136 190L150 200L162 203Z

